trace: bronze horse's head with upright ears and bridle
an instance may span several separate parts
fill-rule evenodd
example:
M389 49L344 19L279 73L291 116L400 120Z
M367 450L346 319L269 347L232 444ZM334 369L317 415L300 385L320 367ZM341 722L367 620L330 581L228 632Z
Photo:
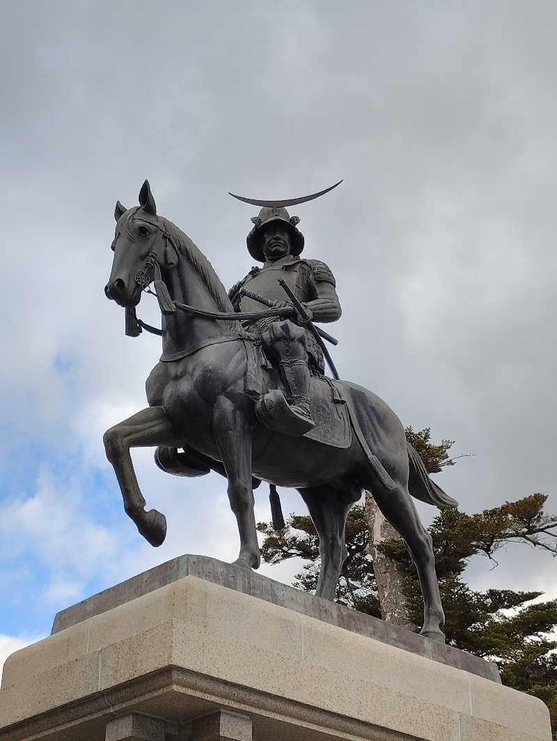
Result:
M119 305L132 307L138 305L141 291L155 279L155 262L172 267L178 262L178 253L167 239L163 219L157 216L148 181L139 191L139 207L128 209L117 201L114 218L114 259L104 293Z

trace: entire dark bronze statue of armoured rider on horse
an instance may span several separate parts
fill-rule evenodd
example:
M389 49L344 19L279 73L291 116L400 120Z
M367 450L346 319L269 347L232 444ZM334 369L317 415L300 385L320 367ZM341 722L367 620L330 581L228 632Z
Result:
M340 316L334 278L323 263L300 259L303 237L285 210L290 202L254 203L263 210L248 246L255 259L264 258L263 268L234 287L232 300L192 240L158 216L147 181L139 207L116 204L105 292L126 308L126 333L133 336L149 328L135 306L153 285L162 328L149 329L163 345L146 381L149 406L104 435L126 514L152 545L161 545L166 519L146 511L130 448L156 447L158 465L180 476L219 471L228 479L240 534L236 562L258 568L253 488L260 480L297 488L320 537L317 595L333 599L346 557L346 515L367 489L416 564L422 634L444 641L431 537L411 495L439 508L456 502L430 479L382 399L323 374L323 330L311 318Z

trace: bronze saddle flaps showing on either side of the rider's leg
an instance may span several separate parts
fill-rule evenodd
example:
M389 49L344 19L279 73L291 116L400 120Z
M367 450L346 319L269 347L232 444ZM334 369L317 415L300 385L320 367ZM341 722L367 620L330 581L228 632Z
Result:
M267 391L277 388L285 391L277 369L259 342L245 341L247 368L246 393L259 399ZM315 427L303 437L331 445L333 448L349 448L352 432L348 409L334 381L326 376L311 375L309 400Z

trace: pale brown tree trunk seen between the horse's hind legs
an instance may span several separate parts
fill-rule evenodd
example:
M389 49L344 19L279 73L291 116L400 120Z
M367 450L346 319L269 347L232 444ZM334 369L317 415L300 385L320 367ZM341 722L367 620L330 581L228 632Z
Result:
M374 574L379 605L381 605L381 617L387 622L406 628L408 631L416 630L416 625L413 625L408 619L405 597L402 594L402 574L399 566L394 559L377 549L377 546L383 540L400 539L400 536L379 511L375 499L368 491L365 492L365 519L368 522L370 534L370 553L374 560Z

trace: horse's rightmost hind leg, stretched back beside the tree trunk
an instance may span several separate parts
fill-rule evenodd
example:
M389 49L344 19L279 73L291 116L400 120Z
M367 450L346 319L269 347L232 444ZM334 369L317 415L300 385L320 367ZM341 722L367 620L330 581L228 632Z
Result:
M424 599L424 625L420 633L427 638L445 642L445 634L441 630L445 625L445 614L435 573L431 535L419 519L408 488L398 485L394 491L388 491L379 482L374 482L368 488L382 514L404 539L416 565Z

